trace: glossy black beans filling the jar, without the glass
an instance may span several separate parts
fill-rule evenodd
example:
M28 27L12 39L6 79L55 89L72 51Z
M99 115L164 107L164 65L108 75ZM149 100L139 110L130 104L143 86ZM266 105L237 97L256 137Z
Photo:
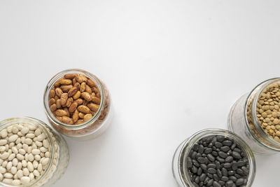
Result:
M246 186L248 158L234 139L211 135L191 148L186 166L194 186Z

